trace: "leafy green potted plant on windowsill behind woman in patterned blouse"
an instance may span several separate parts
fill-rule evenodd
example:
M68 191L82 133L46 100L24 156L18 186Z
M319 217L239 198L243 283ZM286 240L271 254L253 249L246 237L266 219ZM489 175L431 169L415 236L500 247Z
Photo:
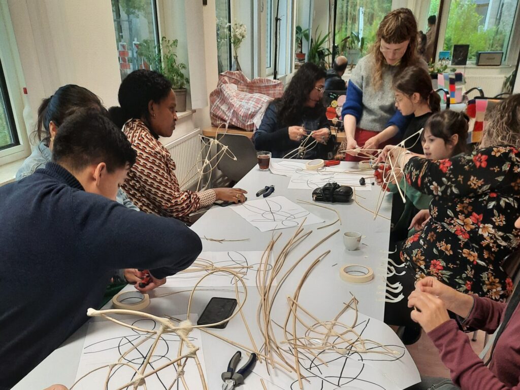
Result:
M137 55L143 57L148 62L151 70L161 73L172 83L172 89L177 96L177 111L182 112L186 111L186 84L189 84L190 80L183 72L187 69L186 64L177 62L177 53L175 52L177 44L177 39L170 41L170 39L166 39L163 36L161 39L161 50L158 50L158 47L152 46L150 41L145 39L139 45Z

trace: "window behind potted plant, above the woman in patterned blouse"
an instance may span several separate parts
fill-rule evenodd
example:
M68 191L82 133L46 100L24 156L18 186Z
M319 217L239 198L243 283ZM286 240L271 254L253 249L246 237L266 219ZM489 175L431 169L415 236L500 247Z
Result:
M157 69L159 29L154 0L112 0L121 79L137 69Z

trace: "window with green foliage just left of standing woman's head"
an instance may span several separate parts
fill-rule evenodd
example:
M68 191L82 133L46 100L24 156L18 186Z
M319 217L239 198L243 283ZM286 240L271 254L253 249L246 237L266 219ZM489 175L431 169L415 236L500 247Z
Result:
M339 0L336 11L335 44L340 55L347 55L346 46L341 42L352 32L365 42L361 55L365 54L375 41L379 23L392 9L392 0Z

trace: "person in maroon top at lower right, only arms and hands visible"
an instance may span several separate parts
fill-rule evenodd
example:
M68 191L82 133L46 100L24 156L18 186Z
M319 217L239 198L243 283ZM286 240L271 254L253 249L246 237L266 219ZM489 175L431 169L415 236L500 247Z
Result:
M520 219L515 226L520 228ZM518 390L520 388L520 288L508 304L489 298L464 294L428 276L417 282L408 297L411 318L418 322L439 350L450 370L454 385L462 390ZM471 346L467 334L459 330L448 311L457 315L464 326L492 333L499 328L491 357L484 362ZM438 379L425 378L407 390L426 390ZM459 387L450 387L456 389ZM435 387L437 388L437 387ZM445 387L440 387L444 389ZM439 389L440 390L440 389Z

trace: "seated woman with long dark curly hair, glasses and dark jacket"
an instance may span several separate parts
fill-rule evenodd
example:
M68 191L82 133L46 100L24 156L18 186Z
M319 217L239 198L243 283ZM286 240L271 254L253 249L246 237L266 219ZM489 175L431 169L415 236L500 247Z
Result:
M306 62L294 74L283 96L272 101L253 135L258 151L272 157L323 158L334 156L336 138L331 135L323 97L325 71ZM302 153L298 152L298 147ZM293 152L294 151L294 152Z

